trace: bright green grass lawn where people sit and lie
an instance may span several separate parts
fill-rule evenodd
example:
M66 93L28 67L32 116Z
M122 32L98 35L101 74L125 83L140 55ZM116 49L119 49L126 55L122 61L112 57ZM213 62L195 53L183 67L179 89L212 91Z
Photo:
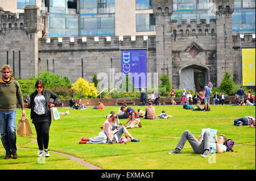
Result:
M145 107L134 106L144 110ZM58 108L65 112L69 108ZM255 107L250 106L211 106L210 112L183 110L182 106L156 106L156 114L165 110L172 118L146 120L141 119L142 128L129 129L141 142L123 144L85 144L80 145L81 136L94 137L101 131L100 127L110 111L117 112L119 107L105 107L105 110L69 110L69 115L52 121L50 128L49 150L75 155L103 169L253 169L255 170L255 128L249 126L235 127L233 120L244 116L255 116ZM26 110L28 118L30 110ZM21 117L17 110L16 123ZM127 119L120 120L125 123ZM30 121L31 123L31 121ZM34 124L31 123L34 135ZM233 153L212 154L201 158L193 153L188 142L179 155L169 155L179 141L185 129L197 138L202 128L218 129L234 140ZM63 155L50 152L45 163L38 162L38 145L30 137L18 137L18 159L5 160L5 149L0 145L0 169L87 169ZM214 163L209 161L214 160Z

